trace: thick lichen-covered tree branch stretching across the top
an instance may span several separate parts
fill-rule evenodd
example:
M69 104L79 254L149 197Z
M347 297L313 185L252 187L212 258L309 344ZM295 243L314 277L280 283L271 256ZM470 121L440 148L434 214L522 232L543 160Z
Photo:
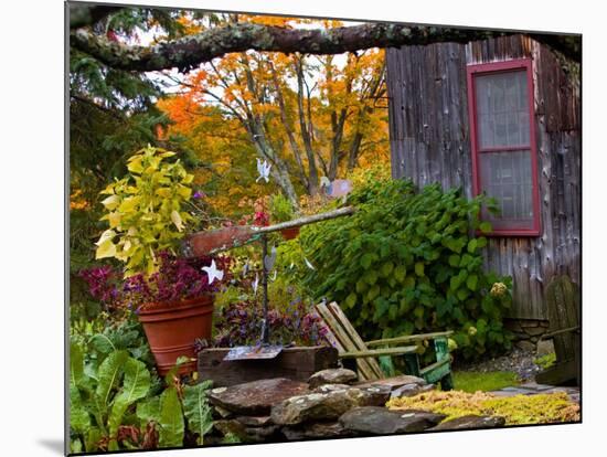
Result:
M129 46L78 29L71 33L71 43L74 47L114 68L151 72L172 67L188 71L198 67L202 62L209 62L227 53L247 50L341 54L370 47L423 45L438 42L468 43L513 33L515 32L382 22L327 30L298 30L236 23L152 46ZM530 34L530 36L550 45L571 60L581 61L582 41L579 36L546 34Z

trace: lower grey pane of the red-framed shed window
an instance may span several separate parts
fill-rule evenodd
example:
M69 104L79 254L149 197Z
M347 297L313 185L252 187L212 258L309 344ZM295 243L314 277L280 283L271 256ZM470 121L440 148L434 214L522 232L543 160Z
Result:
M494 230L533 228L533 183L531 152L483 152L480 158L480 188L498 201L501 213L483 214Z

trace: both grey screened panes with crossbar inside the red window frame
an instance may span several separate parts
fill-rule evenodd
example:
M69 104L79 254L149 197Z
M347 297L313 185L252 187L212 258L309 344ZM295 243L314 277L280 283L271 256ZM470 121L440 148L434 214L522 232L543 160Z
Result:
M488 64L490 67L492 64ZM483 212L498 233L535 231L535 189L532 160L526 66L475 73L472 83L476 123L476 183L493 196L499 215Z

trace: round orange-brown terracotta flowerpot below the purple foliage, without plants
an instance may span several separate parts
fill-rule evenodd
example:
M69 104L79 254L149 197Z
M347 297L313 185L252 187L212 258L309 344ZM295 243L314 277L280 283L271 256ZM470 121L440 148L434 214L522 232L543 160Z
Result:
M143 326L158 372L164 375L181 355L194 358L194 340L211 339L213 296L178 302L149 304L141 307L139 321ZM196 362L181 365L179 373L190 373Z

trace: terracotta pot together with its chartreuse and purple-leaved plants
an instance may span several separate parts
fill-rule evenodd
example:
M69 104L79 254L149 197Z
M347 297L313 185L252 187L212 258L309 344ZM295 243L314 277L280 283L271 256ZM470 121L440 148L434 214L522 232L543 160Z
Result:
M225 257L184 259L175 254L194 217L185 211L193 176L171 159L174 155L147 147L129 158L127 176L102 192L108 195L102 220L109 227L96 243L96 258L125 264L121 284L107 297L114 307L138 313L161 374L178 357L194 357L196 338L211 338L213 293L228 264ZM192 362L180 371L193 369Z

